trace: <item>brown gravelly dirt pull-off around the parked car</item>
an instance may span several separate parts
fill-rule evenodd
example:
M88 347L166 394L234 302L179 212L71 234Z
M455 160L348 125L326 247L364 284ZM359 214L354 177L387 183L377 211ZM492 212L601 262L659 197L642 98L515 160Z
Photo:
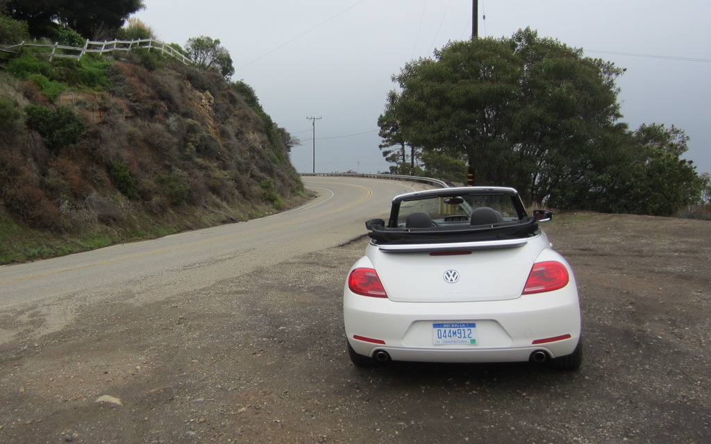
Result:
M570 213L544 225L583 308L577 372L353 367L341 294L366 239L42 334L0 312L0 443L709 443L711 222Z

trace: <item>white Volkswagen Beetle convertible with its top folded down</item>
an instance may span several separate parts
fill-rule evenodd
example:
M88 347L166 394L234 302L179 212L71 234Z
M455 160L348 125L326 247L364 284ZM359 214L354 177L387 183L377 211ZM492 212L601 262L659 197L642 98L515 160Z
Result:
M369 220L348 272L343 322L358 366L390 360L537 362L577 369L580 307L570 265L516 190L461 187L395 196Z

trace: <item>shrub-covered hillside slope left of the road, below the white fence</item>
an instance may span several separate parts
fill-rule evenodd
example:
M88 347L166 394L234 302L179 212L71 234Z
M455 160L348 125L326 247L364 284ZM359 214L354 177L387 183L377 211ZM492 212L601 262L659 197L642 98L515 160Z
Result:
M289 134L244 82L141 50L0 60L0 264L303 202Z

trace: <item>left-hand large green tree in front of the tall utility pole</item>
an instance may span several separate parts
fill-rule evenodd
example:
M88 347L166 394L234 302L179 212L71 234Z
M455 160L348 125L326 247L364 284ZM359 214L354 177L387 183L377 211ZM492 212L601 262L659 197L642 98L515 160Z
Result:
M506 183L513 152L507 127L520 96L516 55L505 40L487 38L449 43L434 56L393 77L400 92L388 95L383 122L397 121L410 146L464 154L478 183Z

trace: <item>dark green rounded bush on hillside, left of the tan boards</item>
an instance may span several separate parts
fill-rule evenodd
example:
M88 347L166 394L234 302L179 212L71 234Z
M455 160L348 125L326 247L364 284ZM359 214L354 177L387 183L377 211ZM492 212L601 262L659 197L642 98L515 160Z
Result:
M27 126L38 132L45 146L58 153L61 148L77 143L86 129L86 122L70 107L49 109L29 104L25 107Z

